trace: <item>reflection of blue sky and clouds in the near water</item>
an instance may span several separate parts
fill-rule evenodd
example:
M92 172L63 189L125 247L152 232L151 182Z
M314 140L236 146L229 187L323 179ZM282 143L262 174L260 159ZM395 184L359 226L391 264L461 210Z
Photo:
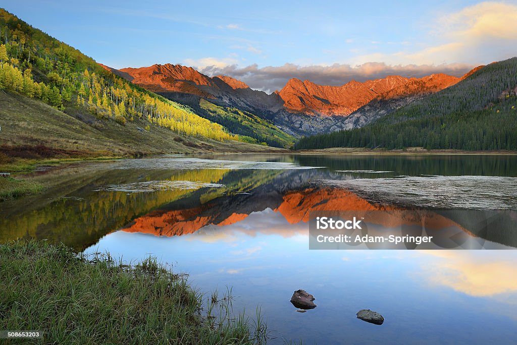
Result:
M236 310L260 305L271 336L306 343L511 343L517 326L514 250L308 250L306 223L267 209L224 227L157 237L117 231L90 247L124 260L155 255L204 291L232 286ZM316 309L289 302L306 289ZM383 314L382 326L355 318ZM490 331L488 331L490 330Z

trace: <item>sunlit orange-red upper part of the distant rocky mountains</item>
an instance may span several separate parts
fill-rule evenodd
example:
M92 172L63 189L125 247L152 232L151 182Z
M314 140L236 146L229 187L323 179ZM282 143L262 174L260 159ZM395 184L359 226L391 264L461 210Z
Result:
M280 91L267 95L232 77L209 77L181 65L153 65L119 71L126 79L155 92L192 93L246 110L262 109L275 113L285 109L291 113L321 116L347 116L374 99L436 92L460 81L459 77L446 74L418 79L391 75L364 83L351 81L342 86L326 86L294 78Z

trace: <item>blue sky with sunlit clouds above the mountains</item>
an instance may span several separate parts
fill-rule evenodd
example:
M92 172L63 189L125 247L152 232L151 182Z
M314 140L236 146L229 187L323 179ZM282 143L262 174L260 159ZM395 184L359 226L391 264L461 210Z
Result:
M169 62L232 75L267 90L281 87L288 75L330 85L387 74L458 75L515 55L517 42L511 29L517 1L24 1L2 6L111 67Z

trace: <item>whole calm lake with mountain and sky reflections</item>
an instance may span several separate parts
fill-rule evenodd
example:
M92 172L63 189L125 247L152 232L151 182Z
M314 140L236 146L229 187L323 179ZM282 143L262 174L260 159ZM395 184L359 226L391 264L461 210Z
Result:
M22 177L50 187L0 203L0 241L156 256L207 294L231 288L236 312L260 307L268 343L517 342L515 155L166 155ZM310 212L340 210L432 212L484 249L309 249ZM315 309L290 303L298 289Z

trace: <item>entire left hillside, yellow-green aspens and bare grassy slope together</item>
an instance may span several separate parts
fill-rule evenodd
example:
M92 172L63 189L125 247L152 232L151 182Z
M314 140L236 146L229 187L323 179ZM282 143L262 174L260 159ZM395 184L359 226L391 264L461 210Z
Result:
M4 146L188 152L217 150L228 145L216 143L227 140L249 141L189 107L121 79L4 9L0 9L0 89L0 145Z

